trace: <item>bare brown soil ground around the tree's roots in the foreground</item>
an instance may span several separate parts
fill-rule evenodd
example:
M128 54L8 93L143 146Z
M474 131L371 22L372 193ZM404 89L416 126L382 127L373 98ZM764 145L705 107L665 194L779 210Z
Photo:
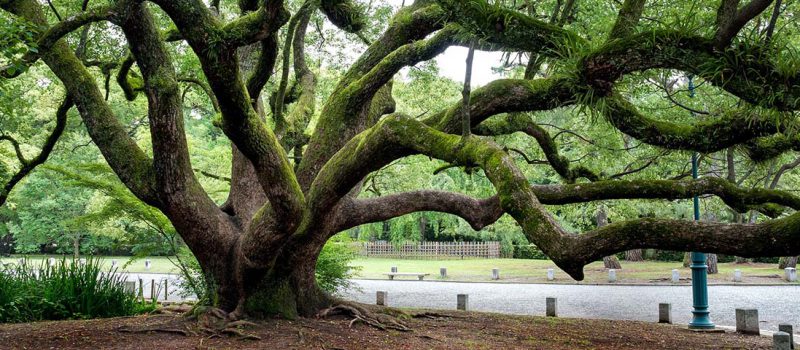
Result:
M381 331L350 319L264 320L260 337L129 333L126 328L192 329L177 315L0 324L1 349L771 349L765 337L694 333L655 323L437 311L408 319L412 332Z

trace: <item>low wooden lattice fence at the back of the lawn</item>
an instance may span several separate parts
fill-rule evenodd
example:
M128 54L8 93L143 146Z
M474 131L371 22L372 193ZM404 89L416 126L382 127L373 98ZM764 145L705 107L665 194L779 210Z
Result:
M445 259L500 257L500 242L405 242L354 243L359 254L374 258Z

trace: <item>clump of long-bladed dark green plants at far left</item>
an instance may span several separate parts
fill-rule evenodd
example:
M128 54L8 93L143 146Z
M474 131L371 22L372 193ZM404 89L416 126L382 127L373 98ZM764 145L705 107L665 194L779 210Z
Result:
M89 259L37 267L23 260L0 267L0 322L116 317L152 309L124 290L121 275L102 272L100 265Z

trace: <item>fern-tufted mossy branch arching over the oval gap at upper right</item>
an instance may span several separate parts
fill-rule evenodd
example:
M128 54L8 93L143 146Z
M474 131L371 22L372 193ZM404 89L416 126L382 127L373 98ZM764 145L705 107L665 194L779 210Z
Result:
M743 100L781 111L800 109L800 72L771 62L765 46L719 51L712 39L673 31L651 31L606 44L579 64L581 80L597 95L610 94L625 74L654 68L689 72Z

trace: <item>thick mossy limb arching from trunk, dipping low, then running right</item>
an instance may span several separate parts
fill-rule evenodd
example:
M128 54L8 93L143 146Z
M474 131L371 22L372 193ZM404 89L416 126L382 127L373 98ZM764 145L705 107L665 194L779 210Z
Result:
M586 264L630 249L674 249L740 256L789 256L800 252L800 240L797 239L800 236L800 213L761 225L638 220L609 225L582 235L565 232L545 210L536 192L528 185L528 180L502 148L477 137L464 139L444 134L401 116L384 118L337 152L320 172L315 186L312 186L310 203L319 206L315 209L323 211L333 208L339 198L343 198L369 172L410 154L424 154L451 163L481 167L498 191L497 200L502 211L519 223L531 243L540 247L576 280L583 279L583 267ZM370 161L364 162L365 159ZM319 181L324 186L320 186ZM707 181L706 186L726 183L724 180L720 183ZM631 184L621 187L634 188ZM679 186L677 190L683 189ZM730 192L730 188L727 191ZM729 200L737 202L737 193L728 192L724 194L730 196ZM636 188L636 193L647 191L640 187ZM393 199L396 201L398 197ZM405 203L413 204L411 201ZM476 205L484 206L472 202L473 207ZM643 229L638 230L639 227ZM691 234L693 230L701 234L694 236Z

